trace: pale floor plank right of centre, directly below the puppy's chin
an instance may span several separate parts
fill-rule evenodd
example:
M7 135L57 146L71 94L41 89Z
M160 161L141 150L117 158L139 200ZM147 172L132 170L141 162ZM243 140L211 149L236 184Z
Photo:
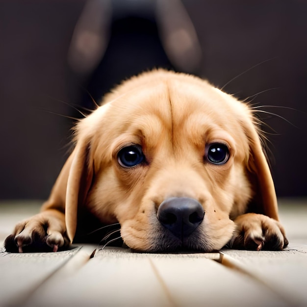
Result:
M151 260L175 306L289 306L254 279L202 257L202 254L184 258L151 256Z

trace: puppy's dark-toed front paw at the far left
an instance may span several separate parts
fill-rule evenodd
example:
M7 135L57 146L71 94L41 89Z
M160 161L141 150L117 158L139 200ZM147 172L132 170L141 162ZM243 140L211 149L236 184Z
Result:
M63 216L61 216L63 215ZM18 223L4 241L10 253L57 252L70 244L61 212L42 212Z

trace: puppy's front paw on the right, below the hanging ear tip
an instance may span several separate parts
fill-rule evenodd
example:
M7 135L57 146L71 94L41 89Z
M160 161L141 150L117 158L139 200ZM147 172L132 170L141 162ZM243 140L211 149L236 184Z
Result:
M228 244L233 249L280 251L288 245L281 223L268 216L247 213L238 216Z

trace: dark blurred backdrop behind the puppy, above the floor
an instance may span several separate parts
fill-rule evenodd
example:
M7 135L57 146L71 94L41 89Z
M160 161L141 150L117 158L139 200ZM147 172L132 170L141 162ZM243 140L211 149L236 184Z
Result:
M46 199L75 107L154 67L267 105L277 194L306 197L306 17L304 0L0 1L0 198Z

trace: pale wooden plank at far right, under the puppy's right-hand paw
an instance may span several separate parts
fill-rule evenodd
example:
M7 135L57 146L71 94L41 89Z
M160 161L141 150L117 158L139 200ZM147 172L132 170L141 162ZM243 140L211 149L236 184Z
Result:
M291 306L307 306L307 245L280 252L224 250L221 263L245 272L279 294Z

